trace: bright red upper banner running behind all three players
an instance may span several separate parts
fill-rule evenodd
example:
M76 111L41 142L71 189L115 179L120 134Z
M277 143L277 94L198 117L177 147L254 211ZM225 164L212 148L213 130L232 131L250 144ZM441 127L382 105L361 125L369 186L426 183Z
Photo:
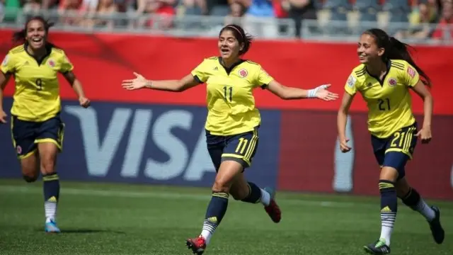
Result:
M11 31L0 31L2 55L12 47ZM95 101L126 101L137 103L176 103L178 105L205 105L205 88L183 94L128 92L120 87L122 79L139 72L148 79L179 79L189 74L203 58L217 55L216 40L192 38L161 38L138 35L108 35L52 33L50 40L62 47L75 65L75 71L84 84L86 94ZM452 47L417 47L415 60L430 75L434 83L436 114L453 114L449 95L453 86L445 84L453 69ZM331 83L332 90L343 94L343 86L355 67L355 45L318 42L253 42L246 55L260 63L275 79L287 86L313 88ZM6 89L11 95L12 86ZM74 98L69 86L62 86L63 98ZM338 109L339 101L282 101L268 91L256 90L260 108L278 109ZM353 111L366 111L365 103L356 100ZM423 113L421 100L414 100L414 111Z

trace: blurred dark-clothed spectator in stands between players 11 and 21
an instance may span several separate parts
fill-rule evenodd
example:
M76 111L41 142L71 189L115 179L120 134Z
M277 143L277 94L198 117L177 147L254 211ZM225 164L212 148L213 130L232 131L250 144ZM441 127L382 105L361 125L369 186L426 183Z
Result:
M303 20L317 19L314 1L316 0L282 0L282 6L286 7L289 18L296 23L297 37L301 35Z

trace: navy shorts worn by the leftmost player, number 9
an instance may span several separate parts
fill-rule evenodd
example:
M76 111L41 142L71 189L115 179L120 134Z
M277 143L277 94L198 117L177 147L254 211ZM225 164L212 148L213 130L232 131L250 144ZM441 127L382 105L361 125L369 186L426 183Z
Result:
M25 159L35 153L40 142L52 142L57 145L60 152L62 151L64 123L59 115L43 122L19 120L13 116L11 132L13 146L19 159Z

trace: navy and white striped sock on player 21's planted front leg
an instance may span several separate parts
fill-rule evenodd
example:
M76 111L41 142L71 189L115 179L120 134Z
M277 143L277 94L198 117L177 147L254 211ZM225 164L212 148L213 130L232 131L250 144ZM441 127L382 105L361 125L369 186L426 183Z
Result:
M390 246L391 232L394 229L396 212L398 209L398 197L394 182L379 180L379 192L381 193L381 237L386 245Z

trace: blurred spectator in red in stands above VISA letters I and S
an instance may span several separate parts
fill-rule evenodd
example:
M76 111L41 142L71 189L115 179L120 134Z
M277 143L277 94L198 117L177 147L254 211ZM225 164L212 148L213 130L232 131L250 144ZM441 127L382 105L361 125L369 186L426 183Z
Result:
M166 29L173 26L173 16L176 14L173 5L176 0L137 0L137 14L151 14L151 18L139 20L139 26Z

